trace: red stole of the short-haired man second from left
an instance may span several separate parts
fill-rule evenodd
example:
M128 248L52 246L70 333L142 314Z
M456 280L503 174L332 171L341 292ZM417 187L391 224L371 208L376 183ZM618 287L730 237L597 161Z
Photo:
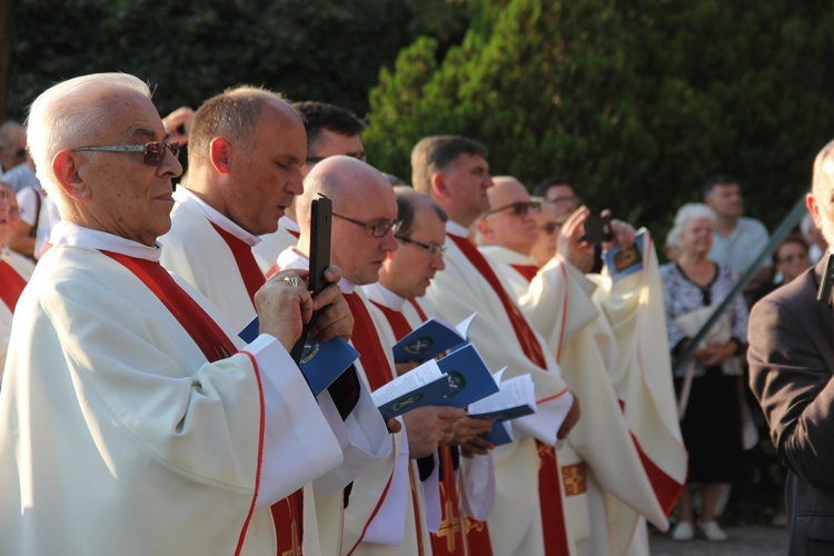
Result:
M255 260L251 246L215 222L211 222L211 227L229 246L254 309L255 294L267 280ZM278 539L278 556L282 554L300 555L301 544L304 543L304 488L299 488L282 500L272 504L270 510L272 512L275 534Z

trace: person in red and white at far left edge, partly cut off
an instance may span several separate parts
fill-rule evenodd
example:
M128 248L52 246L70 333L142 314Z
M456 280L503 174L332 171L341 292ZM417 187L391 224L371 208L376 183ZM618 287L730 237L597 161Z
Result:
M9 348L14 305L34 270L34 265L29 259L10 251L7 247L7 241L14 236L19 222L20 211L14 189L9 183L0 181L0 375Z

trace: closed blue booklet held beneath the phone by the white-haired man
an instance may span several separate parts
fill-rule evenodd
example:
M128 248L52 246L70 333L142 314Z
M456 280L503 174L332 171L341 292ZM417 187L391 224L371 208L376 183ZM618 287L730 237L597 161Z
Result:
M259 335L258 317L240 331L238 336L250 344ZM350 365L359 357L359 351L348 344L344 338L336 337L324 344L312 338L307 338L304 345L301 359L298 368L301 369L307 385L314 396L318 396L339 378Z

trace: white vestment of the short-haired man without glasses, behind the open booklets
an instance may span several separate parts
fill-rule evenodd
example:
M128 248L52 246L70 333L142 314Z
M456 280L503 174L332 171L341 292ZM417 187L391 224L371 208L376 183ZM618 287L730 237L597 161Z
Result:
M446 231L461 239L468 234L466 228L451 221L447 222ZM478 317L469 328L469 339L477 346L487 367L497 371L506 366L504 376L507 378L529 374L536 388L537 413L515 419L515 441L497 447L493 454L496 500L488 519L493 549L496 554L544 554L543 502L538 488L540 446L537 447L536 440L556 445L556 434L570 408L573 396L542 338L534 334L533 341L543 353L545 368L525 355L507 309L488 280L453 238L447 237L446 246L446 269L435 276L423 299L424 306L447 322L460 322L477 312ZM502 287L509 291L506 285ZM512 297L512 292L508 295ZM553 496L558 503L560 496ZM564 497L560 498L559 504L564 506ZM556 528L552 524L544 526ZM564 529L564 524L560 527ZM573 554L569 527L566 534L566 544Z

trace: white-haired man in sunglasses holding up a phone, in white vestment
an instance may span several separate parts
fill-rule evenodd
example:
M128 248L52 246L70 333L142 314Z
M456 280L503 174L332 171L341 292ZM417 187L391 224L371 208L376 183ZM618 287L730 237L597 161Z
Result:
M281 276L265 284L246 345L158 264L182 168L150 97L98 73L30 110L63 221L18 301L0 393L9 554L275 555L270 505L341 463L288 354L314 310L320 340L351 332L338 288L314 300Z

